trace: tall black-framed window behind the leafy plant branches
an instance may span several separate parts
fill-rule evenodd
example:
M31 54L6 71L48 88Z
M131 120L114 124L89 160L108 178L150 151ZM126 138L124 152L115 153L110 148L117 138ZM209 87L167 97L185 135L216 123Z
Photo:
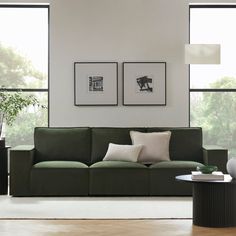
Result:
M0 5L0 90L33 94L42 105L5 127L10 146L31 144L34 127L48 126L48 22L49 6Z

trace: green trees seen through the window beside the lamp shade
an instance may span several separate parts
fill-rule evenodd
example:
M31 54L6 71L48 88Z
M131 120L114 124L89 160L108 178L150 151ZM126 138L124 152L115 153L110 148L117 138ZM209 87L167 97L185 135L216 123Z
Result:
M223 77L210 85L212 89L236 88L236 79ZM236 156L236 93L203 92L192 95L191 126L203 128L204 143L229 149Z

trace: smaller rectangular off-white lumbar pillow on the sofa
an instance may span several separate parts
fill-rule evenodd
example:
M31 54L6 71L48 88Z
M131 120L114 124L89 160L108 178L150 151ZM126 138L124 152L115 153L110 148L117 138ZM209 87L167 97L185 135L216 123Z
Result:
M142 145L119 145L109 143L103 161L130 161L137 162Z

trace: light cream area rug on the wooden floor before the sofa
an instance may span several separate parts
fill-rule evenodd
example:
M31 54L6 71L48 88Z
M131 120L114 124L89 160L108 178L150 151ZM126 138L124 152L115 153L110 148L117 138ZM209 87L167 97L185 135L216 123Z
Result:
M191 197L0 196L0 219L189 219Z

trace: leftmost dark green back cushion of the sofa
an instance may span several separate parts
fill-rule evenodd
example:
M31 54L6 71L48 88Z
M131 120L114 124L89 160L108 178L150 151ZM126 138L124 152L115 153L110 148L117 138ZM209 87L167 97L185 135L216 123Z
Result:
M87 127L41 128L34 131L36 162L80 161L90 164L91 133Z

